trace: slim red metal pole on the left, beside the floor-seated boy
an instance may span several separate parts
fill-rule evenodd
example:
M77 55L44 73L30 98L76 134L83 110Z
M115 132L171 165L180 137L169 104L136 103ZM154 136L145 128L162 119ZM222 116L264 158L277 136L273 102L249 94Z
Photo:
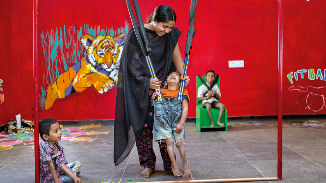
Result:
M34 0L34 153L35 153L35 183L40 183L39 170L39 121L38 121L38 74L37 74L37 14L38 0Z

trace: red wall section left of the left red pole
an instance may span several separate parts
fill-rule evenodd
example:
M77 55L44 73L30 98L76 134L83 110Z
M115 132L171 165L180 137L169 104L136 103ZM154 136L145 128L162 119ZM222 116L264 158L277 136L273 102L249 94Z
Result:
M0 1L0 125L33 119L33 0Z

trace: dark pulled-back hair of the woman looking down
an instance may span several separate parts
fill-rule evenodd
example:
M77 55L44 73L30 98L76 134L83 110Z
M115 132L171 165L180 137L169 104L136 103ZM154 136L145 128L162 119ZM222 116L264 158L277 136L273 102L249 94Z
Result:
M176 13L172 7L168 5L157 6L151 16L148 18L147 23L152 21L167 23L169 21L176 22Z

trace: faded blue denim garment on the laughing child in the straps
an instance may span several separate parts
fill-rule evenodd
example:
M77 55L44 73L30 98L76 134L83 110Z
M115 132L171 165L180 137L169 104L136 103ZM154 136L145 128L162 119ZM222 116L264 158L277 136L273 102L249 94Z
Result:
M154 102L154 141L165 141L167 138L186 138L185 125L183 125L183 130L180 134L175 133L176 126L181 120L182 102L170 102L171 99L165 98L162 102Z

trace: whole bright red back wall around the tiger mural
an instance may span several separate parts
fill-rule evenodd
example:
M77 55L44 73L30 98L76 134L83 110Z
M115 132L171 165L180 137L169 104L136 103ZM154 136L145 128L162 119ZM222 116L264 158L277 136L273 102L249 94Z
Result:
M4 81L2 93L6 97L5 102L0 104L0 120L13 118L16 113L22 113L23 118L26 116L27 119L33 114L32 3L23 0L17 2L19 7L25 8L12 5L16 4L14 1L1 1L1 16L6 18L3 24L6 28L1 29L1 38L6 36L1 39L1 43L11 44L8 46L10 49L1 47L1 52L10 51L15 54L1 54L2 60L10 59L12 62L6 62L3 66L10 72L0 74L0 79ZM198 1L195 19L197 33L193 39L194 50L191 51L188 69L191 82L187 90L193 98L188 117L195 117L196 75L203 75L209 69L221 76L222 103L226 104L228 116L277 114L277 3L277 0ZM149 3L139 0L144 21L160 4L159 1ZM190 1L167 0L164 4L172 6L176 11L175 26L183 32L179 39L183 54ZM287 78L287 74L299 69L315 69L315 74L317 69L321 69L324 75L326 14L323 12L326 10L326 2L283 0L283 4L284 114L326 114L325 107L318 112L315 110L325 105L321 94L289 90L291 86L323 87L326 81L309 80L307 73L304 73L303 79L299 76L298 81L293 78L293 84ZM125 26L126 20L132 27L124 0L39 0L39 33L72 24L77 28L89 24L117 29ZM20 47L12 43L19 43ZM41 40L38 47L39 73L42 73L44 55ZM228 68L230 60L244 60L245 67ZM9 77L11 73L15 73L15 77ZM43 81L43 74L39 75L39 81ZM113 119L115 96L116 88L103 94L89 88L56 100L52 108L40 112L40 118Z

